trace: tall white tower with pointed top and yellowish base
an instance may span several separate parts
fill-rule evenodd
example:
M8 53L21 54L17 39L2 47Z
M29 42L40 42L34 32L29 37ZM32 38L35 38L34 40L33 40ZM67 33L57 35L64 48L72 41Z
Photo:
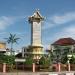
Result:
M36 10L32 16L29 17L29 23L31 24L31 47L34 59L40 59L42 55L42 38L41 38L41 27L44 18Z

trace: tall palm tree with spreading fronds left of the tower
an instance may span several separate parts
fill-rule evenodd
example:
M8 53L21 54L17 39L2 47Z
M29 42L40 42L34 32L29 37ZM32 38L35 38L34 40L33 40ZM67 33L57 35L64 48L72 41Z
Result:
M20 39L20 38L17 38L16 34L11 34L10 33L10 36L8 38L5 38L5 39L7 40L7 43L11 45L11 55L12 55L13 44L17 43L18 39Z

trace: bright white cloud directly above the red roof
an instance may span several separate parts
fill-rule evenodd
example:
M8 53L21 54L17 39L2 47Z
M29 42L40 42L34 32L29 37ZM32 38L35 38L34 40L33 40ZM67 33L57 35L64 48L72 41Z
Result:
M57 40L59 38L67 38L67 37L71 37L75 39L75 26L74 25L63 28L61 32L56 33L53 40L54 39Z

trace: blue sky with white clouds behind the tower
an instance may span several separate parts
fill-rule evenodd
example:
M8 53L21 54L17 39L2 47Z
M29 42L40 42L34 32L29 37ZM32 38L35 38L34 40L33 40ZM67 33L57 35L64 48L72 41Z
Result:
M14 49L30 45L28 17L36 9L45 17L42 24L44 48L59 38L75 39L75 0L0 0L0 41L6 41L4 38L12 33L20 38Z

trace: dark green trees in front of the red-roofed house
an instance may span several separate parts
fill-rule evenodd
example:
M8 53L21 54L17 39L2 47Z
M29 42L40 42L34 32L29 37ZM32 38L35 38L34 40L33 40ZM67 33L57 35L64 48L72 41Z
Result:
M68 53L70 53L70 49L71 49L70 46L55 45L54 47L55 49L51 53L51 55L53 54L51 59L53 58L53 60L55 60L57 63L58 62L61 62L63 64L67 63L68 61L67 55Z

